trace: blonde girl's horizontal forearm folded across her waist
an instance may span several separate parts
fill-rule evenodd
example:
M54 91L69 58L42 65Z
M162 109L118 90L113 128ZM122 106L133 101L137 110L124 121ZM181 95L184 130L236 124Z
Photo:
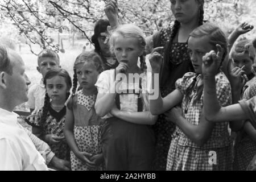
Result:
M115 117L123 119L127 122L141 124L141 125L154 125L158 116L152 115L150 111L143 112L129 112L122 111L117 109L117 107L113 107L111 110L111 114Z

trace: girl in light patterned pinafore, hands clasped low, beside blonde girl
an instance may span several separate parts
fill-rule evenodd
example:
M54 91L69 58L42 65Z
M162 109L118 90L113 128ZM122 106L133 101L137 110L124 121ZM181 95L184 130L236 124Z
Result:
M101 118L95 112L97 88L94 84L103 71L96 52L83 52L75 61L72 96L67 101L64 134L71 148L72 171L101 171L103 155L100 143ZM80 84L77 89L77 81Z

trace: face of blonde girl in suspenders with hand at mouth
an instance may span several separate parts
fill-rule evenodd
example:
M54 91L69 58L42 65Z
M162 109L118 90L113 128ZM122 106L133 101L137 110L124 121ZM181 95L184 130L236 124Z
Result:
M114 53L118 62L125 60L129 65L137 65L138 57L143 51L139 47L137 38L124 38L119 35L114 42Z

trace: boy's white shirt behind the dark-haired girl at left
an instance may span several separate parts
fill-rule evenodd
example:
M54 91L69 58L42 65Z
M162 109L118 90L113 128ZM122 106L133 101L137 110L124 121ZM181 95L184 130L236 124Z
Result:
M32 85L28 90L27 106L30 109L39 110L44 106L44 97L46 96L46 88L42 79L38 84Z

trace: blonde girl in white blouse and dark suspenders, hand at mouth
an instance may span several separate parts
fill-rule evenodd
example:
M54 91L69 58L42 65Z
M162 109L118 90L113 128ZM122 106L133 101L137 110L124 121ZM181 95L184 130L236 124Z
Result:
M123 24L109 44L119 65L98 77L95 103L96 113L106 120L102 130L106 169L151 170L155 147L151 125L157 116L148 110L144 34L133 24Z

